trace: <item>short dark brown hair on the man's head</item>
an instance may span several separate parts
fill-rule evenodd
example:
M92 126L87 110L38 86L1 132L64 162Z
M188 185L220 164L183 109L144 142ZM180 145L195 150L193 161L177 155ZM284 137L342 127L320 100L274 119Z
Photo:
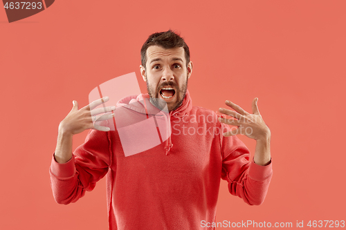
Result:
M140 49L140 60L142 61L142 66L145 68L147 63L147 48L149 46L161 46L165 49L183 47L185 50L186 67L190 62L190 50L188 45L185 43L184 39L177 35L174 31L168 30L165 32L155 32L149 35L147 41L143 44Z

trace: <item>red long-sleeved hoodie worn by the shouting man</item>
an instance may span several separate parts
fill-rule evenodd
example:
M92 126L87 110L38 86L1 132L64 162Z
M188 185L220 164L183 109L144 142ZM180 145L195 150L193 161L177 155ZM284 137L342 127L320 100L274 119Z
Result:
M158 144L125 156L118 129L126 122L116 122L114 131L89 131L69 162L52 159L56 202L76 202L106 175L109 229L193 230L214 229L205 223L215 222L221 178L228 182L229 192L247 204L264 201L271 163L255 164L236 136L224 137L229 128L218 122L216 113L192 106L188 91L183 104L167 114L150 113L152 104L143 98L148 95L125 97L118 106L127 108L126 115L144 114L149 119L156 114L156 124L166 122L162 130L156 126L161 131ZM138 138L131 143L147 144Z

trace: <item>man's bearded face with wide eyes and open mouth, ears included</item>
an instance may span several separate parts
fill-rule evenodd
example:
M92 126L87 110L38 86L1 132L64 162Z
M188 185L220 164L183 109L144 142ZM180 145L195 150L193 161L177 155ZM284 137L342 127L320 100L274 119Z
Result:
M149 97L154 106L162 108L165 101L169 111L181 106L192 73L192 62L186 67L183 47L165 49L161 46L147 48L147 63L140 66ZM164 104L164 103L163 103Z

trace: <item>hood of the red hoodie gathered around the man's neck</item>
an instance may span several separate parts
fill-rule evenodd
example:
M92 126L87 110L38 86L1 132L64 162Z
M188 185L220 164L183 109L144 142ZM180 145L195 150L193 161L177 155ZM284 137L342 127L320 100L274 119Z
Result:
M156 108L150 101L149 101L149 95L147 93L140 94L140 95L129 95L127 97L123 97L119 100L119 102L116 104L117 107L124 107L131 111L135 111L140 114L147 115L147 119L149 117L154 117L156 128L158 132L160 131L160 127L158 126L157 119L164 119L165 123L165 137L167 138L161 138L164 136L163 133L160 133L161 137L161 143L163 142L162 139L165 139L165 153L168 155L168 152L173 147L172 140L171 140L171 119L179 119L182 117L185 117L192 109L192 99L190 97L190 93L188 90L186 90L185 97L183 99L183 103L179 108L176 108L174 111L170 111L168 113L167 106L162 111L159 108ZM162 124L162 122L161 122Z

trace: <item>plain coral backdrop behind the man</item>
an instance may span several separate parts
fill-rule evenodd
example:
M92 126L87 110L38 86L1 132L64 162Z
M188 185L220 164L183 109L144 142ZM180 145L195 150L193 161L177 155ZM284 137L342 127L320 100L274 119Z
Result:
M273 179L251 207L221 182L217 221L346 220L345 1L55 1L8 23L0 8L0 229L107 229L105 180L67 206L51 192L57 127L73 99L136 72L152 32L176 30L194 62L192 102L226 99L271 128ZM86 133L73 137L73 148ZM239 136L255 150L255 141ZM306 226L305 226L306 227ZM308 227L306 227L308 228ZM217 228L224 229L224 228Z

